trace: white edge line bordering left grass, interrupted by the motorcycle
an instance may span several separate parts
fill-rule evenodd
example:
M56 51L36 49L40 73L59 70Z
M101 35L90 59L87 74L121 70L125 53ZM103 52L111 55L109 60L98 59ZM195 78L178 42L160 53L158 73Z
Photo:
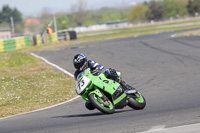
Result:
M43 61L46 62L47 64L49 64L49 65L51 65L51 66L57 68L58 70L64 72L65 74L67 74L67 75L69 75L69 76L71 76L71 77L74 77L73 74L71 74L70 72L64 70L63 68L59 67L58 65L49 62L47 59L45 59L45 58L43 58L43 57L41 57L41 56L38 56L38 55L36 55L36 54L34 54L34 53L31 53L31 55L34 56L34 57L36 57L36 58L39 58L39 59L43 60ZM17 115L12 115L12 116L8 116L8 117L3 117L3 118L0 118L0 120L2 120L2 119L7 119L7 118L11 118L11 117L16 117L16 116L20 116L20 115L25 115L25 114L29 114L29 113L33 113L33 112L38 112L38 111L42 111L42 110L46 110L46 109L50 109L50 108L53 108L53 107L56 107L56 106L59 106L59 105L62 105L62 104L69 103L69 102L71 102L71 101L73 101L73 100L75 100L75 99L77 99L77 98L79 98L79 97L80 97L80 96L76 96L76 97L74 97L74 98L72 98L72 99L70 99L70 100L68 100L68 101L65 101L65 102L62 102L62 103L59 103L59 104L56 104L56 105L52 105L52 106L49 106L49 107L46 107L46 108L42 108L42 109L38 109L38 110L26 112L26 113L21 113L21 114L17 114Z

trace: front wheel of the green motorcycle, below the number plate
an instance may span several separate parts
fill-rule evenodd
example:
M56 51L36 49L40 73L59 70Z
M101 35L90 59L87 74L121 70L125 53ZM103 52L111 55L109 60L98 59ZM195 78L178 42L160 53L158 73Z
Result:
M104 114L113 114L115 111L115 107L112 102L106 98L102 99L95 93L89 95L89 100L94 107L103 112Z

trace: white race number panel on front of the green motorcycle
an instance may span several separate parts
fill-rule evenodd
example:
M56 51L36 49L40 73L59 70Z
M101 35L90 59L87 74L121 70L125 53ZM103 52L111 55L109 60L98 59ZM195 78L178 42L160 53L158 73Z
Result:
M76 82L76 92L80 94L90 82L90 79L83 76Z

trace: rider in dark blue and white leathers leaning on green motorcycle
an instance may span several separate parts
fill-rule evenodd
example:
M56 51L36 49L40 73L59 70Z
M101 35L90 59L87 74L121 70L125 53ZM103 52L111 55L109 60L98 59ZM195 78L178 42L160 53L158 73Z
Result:
M76 68L76 71L74 73L75 80L76 80L77 76L79 75L79 73L86 70L87 68L90 68L91 72L93 74L99 73L99 71L104 69L104 66L102 66L101 64L98 64L97 62L95 62L93 60L87 60L87 57L84 54L76 54L73 58L73 64L74 64L74 67ZM132 87L130 85L126 84L121 79L121 77L119 77L117 75L117 72L115 69L108 68L105 71L105 75L107 78L120 83L120 85L122 85L125 90L132 89ZM86 102L85 106L89 110L94 109L94 107L88 102Z

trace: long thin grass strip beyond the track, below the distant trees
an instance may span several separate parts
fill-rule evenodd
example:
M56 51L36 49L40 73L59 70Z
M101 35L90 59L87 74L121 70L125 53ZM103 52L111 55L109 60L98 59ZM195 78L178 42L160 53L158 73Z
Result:
M104 39L113 39L113 38L124 38L124 37L132 37L144 34L154 34L166 31L173 30L182 30L182 29L190 29L190 28L199 28L200 26L200 18L193 18L190 20L182 20L175 22L159 22L155 24L141 24L135 25L129 28L120 28L120 29L112 29L106 31L97 31L97 32L89 32L89 33L79 33L81 37L78 38L79 41L97 41ZM92 33L95 33L92 35ZM96 34L99 33L99 34ZM90 34L90 36L84 36Z

